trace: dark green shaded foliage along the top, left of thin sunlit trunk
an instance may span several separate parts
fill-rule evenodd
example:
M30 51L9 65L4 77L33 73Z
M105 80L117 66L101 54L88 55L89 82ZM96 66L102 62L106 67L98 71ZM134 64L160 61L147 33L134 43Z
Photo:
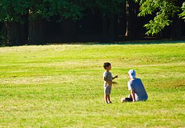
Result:
M0 0L0 21L22 22L28 13L32 18L42 16L49 19L54 15L61 18L78 19L88 8L100 9L104 14L111 15L120 12L123 0Z

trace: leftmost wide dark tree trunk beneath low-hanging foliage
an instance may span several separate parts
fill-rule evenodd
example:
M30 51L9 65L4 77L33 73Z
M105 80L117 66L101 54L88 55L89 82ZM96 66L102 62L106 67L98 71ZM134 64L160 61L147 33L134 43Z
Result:
M24 24L18 22L6 22L6 45L16 46L22 45L25 42L24 36Z

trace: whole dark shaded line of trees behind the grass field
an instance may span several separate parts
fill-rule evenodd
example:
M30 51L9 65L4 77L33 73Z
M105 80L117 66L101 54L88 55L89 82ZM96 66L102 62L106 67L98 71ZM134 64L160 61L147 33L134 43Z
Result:
M183 0L0 0L0 44L182 39Z

